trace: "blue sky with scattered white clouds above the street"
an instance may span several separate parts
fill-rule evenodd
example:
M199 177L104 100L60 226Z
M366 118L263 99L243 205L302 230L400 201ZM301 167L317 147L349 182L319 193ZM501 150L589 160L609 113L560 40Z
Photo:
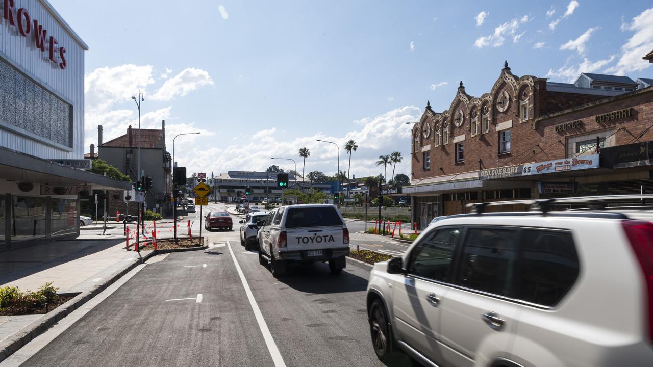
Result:
M426 101L449 108L458 82L479 96L507 60L517 76L573 82L581 72L653 78L650 1L50 0L88 44L86 151L166 121L189 172L264 170L357 177L403 155ZM191 4L182 6L182 4ZM347 168L345 142L358 145ZM389 172L390 168L389 168Z

